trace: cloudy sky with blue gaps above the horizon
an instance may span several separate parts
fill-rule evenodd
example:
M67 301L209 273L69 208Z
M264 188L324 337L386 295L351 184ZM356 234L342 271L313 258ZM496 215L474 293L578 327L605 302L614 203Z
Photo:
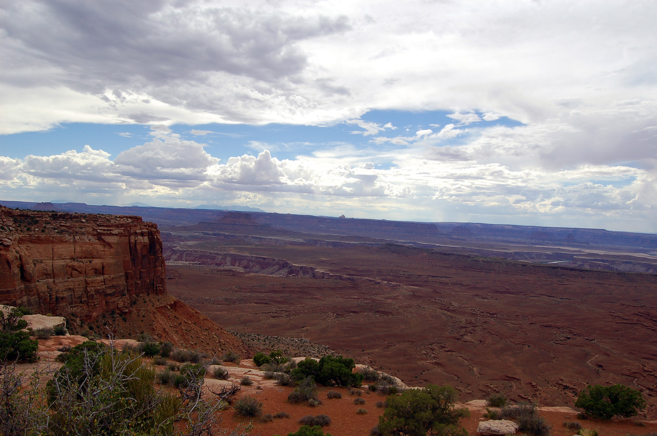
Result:
M0 199L657 233L657 1L0 0Z

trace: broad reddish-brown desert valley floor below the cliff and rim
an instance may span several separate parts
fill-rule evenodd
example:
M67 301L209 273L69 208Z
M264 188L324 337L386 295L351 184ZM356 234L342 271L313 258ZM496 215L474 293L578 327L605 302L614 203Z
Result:
M195 245L196 260L212 263L215 251L230 248L355 277L168 266L169 292L229 330L306 338L409 386L451 384L466 401L501 392L544 406L572 405L587 384L622 383L643 391L646 417L657 418L652 275L400 246L212 247Z

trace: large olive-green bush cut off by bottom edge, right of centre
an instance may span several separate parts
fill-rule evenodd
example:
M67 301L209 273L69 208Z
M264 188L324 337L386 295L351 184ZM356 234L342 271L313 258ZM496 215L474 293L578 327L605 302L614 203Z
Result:
M455 408L457 392L451 386L429 385L424 389L407 389L388 397L386 409L379 417L378 429L384 435L466 435L459 427L461 418L469 416L465 408Z

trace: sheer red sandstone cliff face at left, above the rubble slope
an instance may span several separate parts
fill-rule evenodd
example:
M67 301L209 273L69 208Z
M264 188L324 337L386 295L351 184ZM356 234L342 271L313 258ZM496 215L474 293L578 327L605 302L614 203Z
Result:
M166 293L162 241L139 216L0 207L0 304L81 321Z

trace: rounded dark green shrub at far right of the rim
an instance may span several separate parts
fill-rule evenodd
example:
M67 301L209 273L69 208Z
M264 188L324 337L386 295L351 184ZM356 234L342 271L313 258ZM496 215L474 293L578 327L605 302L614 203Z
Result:
M588 416L610 420L616 415L636 416L646 406L646 401L641 392L622 384L595 385L579 393L575 406L583 408Z

